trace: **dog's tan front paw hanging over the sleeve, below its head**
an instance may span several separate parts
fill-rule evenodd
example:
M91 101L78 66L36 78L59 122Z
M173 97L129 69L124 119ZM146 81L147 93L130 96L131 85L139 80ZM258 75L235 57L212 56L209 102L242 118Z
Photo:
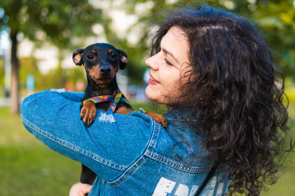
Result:
M84 125L90 126L96 117L96 107L93 101L86 101L80 112Z

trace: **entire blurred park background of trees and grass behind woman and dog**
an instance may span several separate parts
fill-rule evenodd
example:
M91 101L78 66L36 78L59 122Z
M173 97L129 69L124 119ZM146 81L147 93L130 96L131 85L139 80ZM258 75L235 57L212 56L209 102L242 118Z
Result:
M84 91L86 74L74 65L72 53L107 42L128 54L129 63L118 75L123 93L135 110L154 111L144 95L154 22L164 17L163 10L202 3L241 14L266 35L285 76L294 120L295 0L1 0L0 195L68 195L80 175L80 163L53 152L24 129L19 115L24 97L49 88ZM280 180L261 195L294 195L294 162L293 153Z

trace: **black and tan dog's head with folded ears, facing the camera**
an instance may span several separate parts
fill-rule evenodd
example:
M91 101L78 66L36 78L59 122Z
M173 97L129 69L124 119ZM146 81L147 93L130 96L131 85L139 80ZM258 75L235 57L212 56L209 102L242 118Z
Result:
M128 63L127 54L108 43L95 43L75 50L73 61L76 65L83 65L87 75L102 85L108 84L118 69L124 69Z

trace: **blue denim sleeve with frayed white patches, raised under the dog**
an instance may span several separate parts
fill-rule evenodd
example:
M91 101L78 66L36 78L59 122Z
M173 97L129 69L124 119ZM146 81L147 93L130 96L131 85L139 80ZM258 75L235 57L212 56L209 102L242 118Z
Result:
M90 127L80 120L83 93L47 90L24 99L25 128L52 150L91 168L106 181L121 176L147 148L153 121L97 110ZM133 112L134 113L134 112Z

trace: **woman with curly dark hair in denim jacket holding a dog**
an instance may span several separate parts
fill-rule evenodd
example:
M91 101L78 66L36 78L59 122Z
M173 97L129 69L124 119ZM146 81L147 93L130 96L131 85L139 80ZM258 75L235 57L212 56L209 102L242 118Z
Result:
M83 93L56 90L26 98L23 123L96 172L89 195L194 195L214 163L201 195L258 195L276 181L274 158L290 150L283 83L247 19L207 5L178 11L155 34L146 65L147 97L170 109L166 130L140 112L102 111L86 128ZM89 189L78 183L70 194Z

